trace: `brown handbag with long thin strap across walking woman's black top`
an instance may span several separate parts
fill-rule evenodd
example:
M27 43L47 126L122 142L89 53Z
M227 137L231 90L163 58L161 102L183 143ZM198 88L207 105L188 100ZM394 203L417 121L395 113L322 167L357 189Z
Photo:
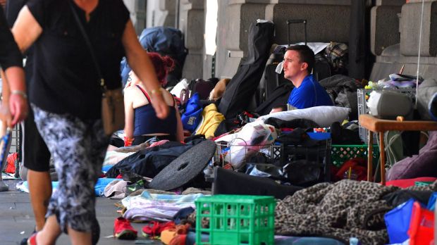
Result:
M103 121L104 132L108 135L111 135L117 130L122 130L125 124L123 93L121 92L121 88L107 89L105 80L103 78L103 75L101 74L99 63L97 63L97 58L94 54L94 50L92 49L87 32L85 32L82 23L80 23L78 13L76 13L73 7L73 3L71 1L68 2L70 4L71 11L73 12L73 15L75 17L76 23L78 23L80 32L82 32L82 36L87 43L87 47L88 49L90 49L92 61L96 68L97 74L99 75L99 84L101 87L101 120Z

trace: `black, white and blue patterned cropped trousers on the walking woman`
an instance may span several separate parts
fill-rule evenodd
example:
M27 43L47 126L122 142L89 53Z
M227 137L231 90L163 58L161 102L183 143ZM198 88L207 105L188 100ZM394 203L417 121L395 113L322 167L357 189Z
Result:
M59 177L59 187L51 196L47 217L56 215L63 232L67 232L68 227L91 232L96 215L94 185L109 142L101 120L80 120L68 114L49 113L33 104L32 108Z

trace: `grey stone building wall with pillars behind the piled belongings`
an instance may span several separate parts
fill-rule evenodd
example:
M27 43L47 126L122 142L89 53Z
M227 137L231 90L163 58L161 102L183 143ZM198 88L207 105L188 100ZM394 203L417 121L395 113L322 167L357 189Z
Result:
M219 10L215 56L206 55L204 51L206 0L147 1L147 27L174 27L178 11L178 28L184 32L185 45L189 49L183 70L187 78L207 79L211 76L211 70L214 70L216 77L233 77L246 56L250 24L257 19L272 20L276 24L273 39L278 44L288 42L288 19L307 19L308 42L350 42L351 1L354 0L217 1ZM372 1L367 2L369 4ZM383 74L394 73L402 64L407 64L409 68L405 72L411 73L414 69L410 65L417 66L421 1L410 0L409 4L400 0L373 2L375 6L370 11L370 40L366 40L370 49L366 54L376 60L370 78L376 80ZM431 70L437 54L436 16L436 1L426 0L421 56L428 58L422 58L421 63L424 63L424 74L430 75L433 75ZM292 25L290 30L290 42L303 41L303 27ZM431 66L426 68L426 65Z

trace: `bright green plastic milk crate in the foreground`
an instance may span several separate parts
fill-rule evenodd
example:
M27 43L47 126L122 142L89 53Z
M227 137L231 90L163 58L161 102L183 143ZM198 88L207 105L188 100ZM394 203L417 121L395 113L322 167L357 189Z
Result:
M273 196L214 195L195 203L197 245L274 244Z

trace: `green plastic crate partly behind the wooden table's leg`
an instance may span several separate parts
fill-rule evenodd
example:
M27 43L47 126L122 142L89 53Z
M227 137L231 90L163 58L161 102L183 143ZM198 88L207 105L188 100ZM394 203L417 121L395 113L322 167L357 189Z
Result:
M376 165L379 160L379 148L377 144L374 144L372 155L373 163ZM367 159L367 144L333 144L331 146L331 161L336 167L340 167L343 163L352 158Z

